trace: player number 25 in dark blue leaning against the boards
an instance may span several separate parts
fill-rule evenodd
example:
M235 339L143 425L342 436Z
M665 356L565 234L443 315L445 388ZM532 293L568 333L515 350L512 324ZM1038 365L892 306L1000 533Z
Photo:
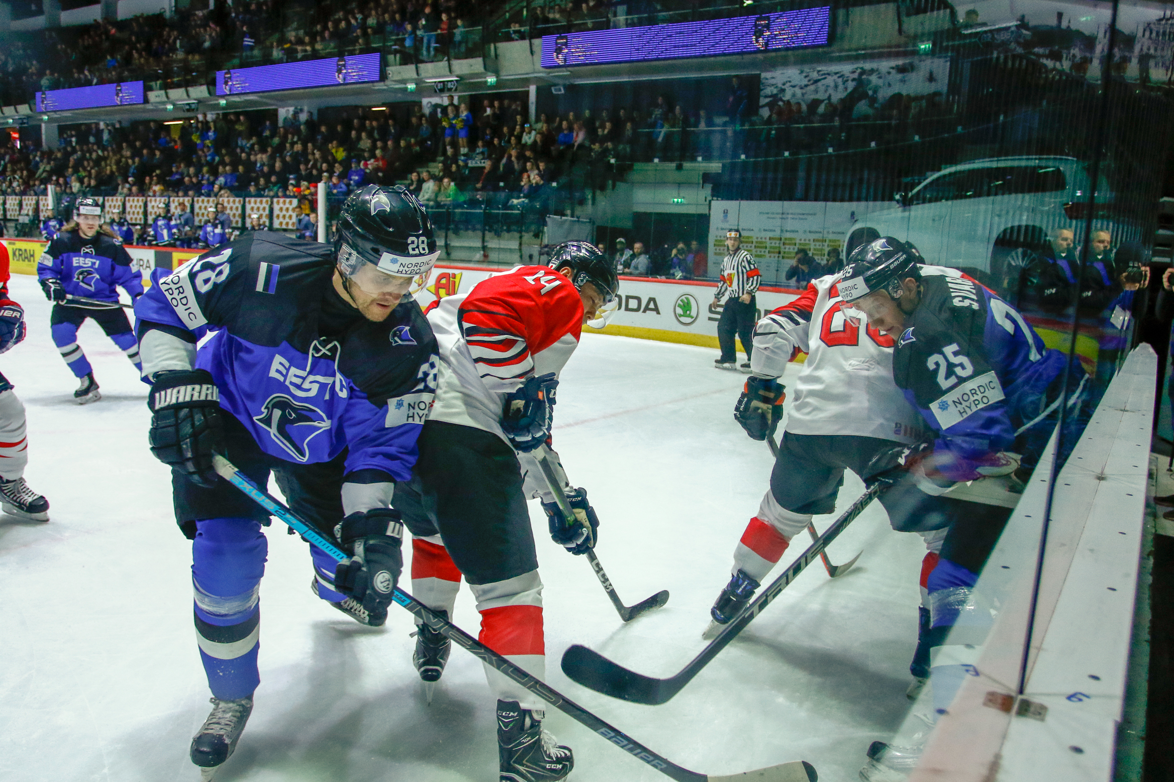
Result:
M918 260L912 247L882 237L852 253L838 284L850 320L863 313L896 340L893 380L935 433L932 448L911 465L918 488L940 497L958 482L981 477L1006 454L1020 455L1012 477L1021 485L1065 404L1062 464L1088 421L1084 368L1070 367L1062 353L1045 347L1023 315L990 290ZM991 606L973 589L1011 515L994 505L970 508L942 528L940 558L926 579L936 714L953 700L981 648ZM933 526L927 518L920 530ZM920 755L919 747L879 743L861 771L866 781L896 778L892 773L906 773Z

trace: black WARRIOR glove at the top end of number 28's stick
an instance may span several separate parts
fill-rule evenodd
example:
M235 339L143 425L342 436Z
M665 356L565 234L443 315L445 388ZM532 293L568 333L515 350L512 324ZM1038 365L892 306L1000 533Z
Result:
M161 372L147 397L150 453L193 483L216 483L212 453L221 446L220 390L204 369Z

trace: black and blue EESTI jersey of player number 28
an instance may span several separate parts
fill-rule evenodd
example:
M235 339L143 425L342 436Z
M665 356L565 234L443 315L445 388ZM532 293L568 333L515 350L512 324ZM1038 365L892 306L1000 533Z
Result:
M295 463L346 450L346 474L405 481L436 394L436 338L409 297L383 322L366 320L333 272L329 245L248 233L153 272L135 305L140 344L154 328L193 344L214 332L195 366L262 450Z

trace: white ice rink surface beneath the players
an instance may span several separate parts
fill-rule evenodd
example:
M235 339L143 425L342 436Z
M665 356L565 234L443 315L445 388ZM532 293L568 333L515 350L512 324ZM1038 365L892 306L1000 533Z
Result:
M26 477L49 498L52 521L0 517L0 780L195 782L188 743L209 693L190 544L171 515L167 468L147 449L147 387L88 321L79 341L103 397L75 404L77 381L49 340L35 280L18 276L11 291L29 334L0 370L28 409ZM835 562L865 551L852 572L831 582L814 564L668 703L613 700L559 668L575 642L652 675L675 673L702 648L709 606L771 467L767 447L733 420L743 375L715 370L715 356L585 334L567 366L554 444L599 512L600 560L628 605L661 589L672 598L623 626L587 562L551 542L532 502L547 679L691 770L807 760L821 780L849 782L869 742L890 737L909 708L917 637L924 548L892 532L877 503L830 548ZM862 491L849 475L839 510ZM453 648L426 706L411 616L392 606L383 628L351 621L310 593L306 545L279 522L268 535L262 682L217 782L495 782L494 701L481 664ZM783 563L805 546L796 540ZM400 584L411 589L406 576ZM477 634L467 590L456 621ZM546 726L574 749L571 780L668 778L555 709Z

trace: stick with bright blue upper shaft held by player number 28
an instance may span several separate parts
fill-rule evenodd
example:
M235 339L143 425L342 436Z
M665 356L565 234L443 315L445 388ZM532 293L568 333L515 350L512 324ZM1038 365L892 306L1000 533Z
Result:
M337 562L348 559L346 553L336 546L330 539L298 518L298 516L284 504L262 490L256 483L249 480L248 476L237 470L227 458L217 454L214 457L212 464L216 472L218 472L222 478L247 494L254 502L264 508L268 512L289 524L291 529L301 533L306 540L322 549ZM812 766L807 761L791 761L789 763L770 766L754 771L743 771L741 774L728 774L722 776L710 776L708 774L690 771L687 768L682 768L676 763L661 757L653 750L634 741L625 733L612 727L574 701L555 692L546 685L546 682L534 678L524 668L518 667L465 631L445 620L440 617L440 614L433 612L407 592L396 587L396 591L392 593L392 599L412 612L429 627L441 633L445 638L456 642L458 646L467 650L471 654L473 654L473 657L510 676L551 706L571 716L575 721L587 726L592 732L603 736L603 739L616 747L620 747L633 757L648 763L657 771L674 780L679 780L680 782L750 782L750 780L755 780L757 782L816 782L818 778L815 768L812 768Z

